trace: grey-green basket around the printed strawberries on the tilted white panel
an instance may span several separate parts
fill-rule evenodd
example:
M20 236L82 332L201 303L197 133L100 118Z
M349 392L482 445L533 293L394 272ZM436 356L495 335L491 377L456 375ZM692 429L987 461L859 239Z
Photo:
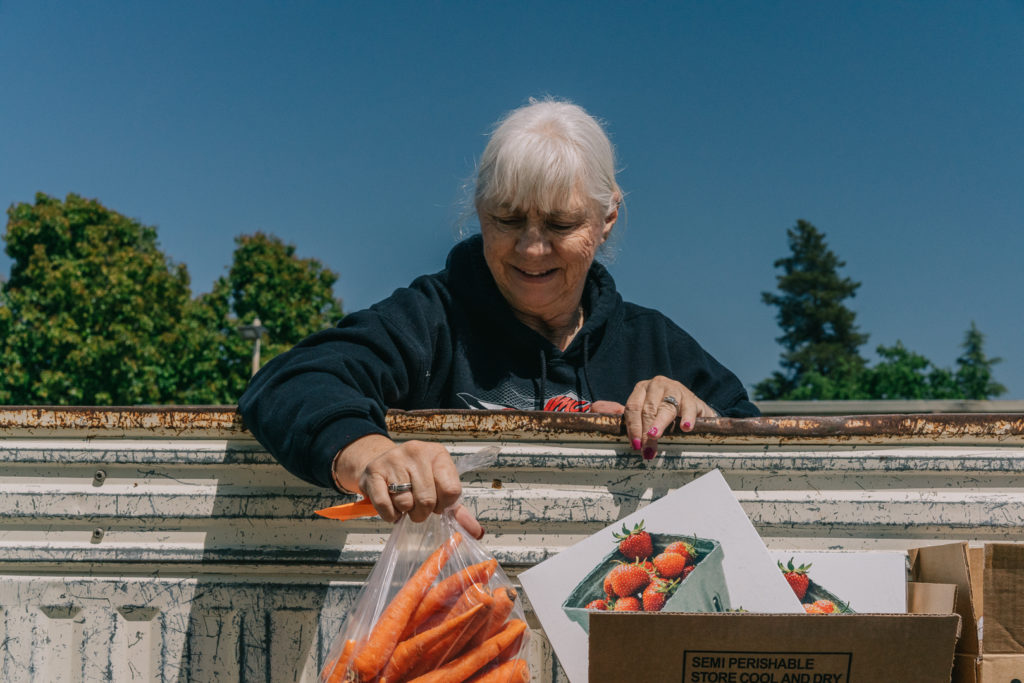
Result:
M670 533L651 533L653 555L659 554L669 544L685 541L693 545L697 559L694 569L686 577L662 608L663 612L724 612L729 610L729 588L722 572L722 558L725 551L722 544L713 539L694 539L692 536L675 536ZM585 605L593 600L600 600L604 595L604 578L611 571L617 561L626 561L617 549L608 553L583 581L577 584L572 592L562 603L562 611L570 620L579 624L584 631L590 633L590 612Z

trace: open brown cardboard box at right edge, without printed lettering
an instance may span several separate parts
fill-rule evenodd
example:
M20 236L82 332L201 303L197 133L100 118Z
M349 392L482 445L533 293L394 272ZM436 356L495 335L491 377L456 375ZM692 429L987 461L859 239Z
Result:
M918 581L954 584L963 635L954 683L1024 681L1024 546L952 544L911 553Z

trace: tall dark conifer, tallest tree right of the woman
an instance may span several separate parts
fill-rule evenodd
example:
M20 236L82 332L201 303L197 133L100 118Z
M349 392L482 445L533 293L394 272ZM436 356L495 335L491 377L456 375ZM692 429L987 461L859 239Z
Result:
M786 231L791 255L775 261L779 294L763 292L762 300L778 308L776 319L784 349L775 372L754 391L759 399L857 398L864 359L858 351L867 341L854 324L856 314L843 303L860 283L841 278L846 265L825 244L824 234L806 220Z

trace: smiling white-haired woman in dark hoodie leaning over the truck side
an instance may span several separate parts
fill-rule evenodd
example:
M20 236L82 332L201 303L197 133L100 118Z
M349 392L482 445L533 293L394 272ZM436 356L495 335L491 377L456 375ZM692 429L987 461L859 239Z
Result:
M512 112L480 160L480 234L440 272L268 362L240 400L246 424L294 474L420 521L458 499L459 477L442 445L388 438L388 408L624 413L648 460L675 421L757 415L732 373L624 302L595 262L621 202L611 144L586 112L556 100Z

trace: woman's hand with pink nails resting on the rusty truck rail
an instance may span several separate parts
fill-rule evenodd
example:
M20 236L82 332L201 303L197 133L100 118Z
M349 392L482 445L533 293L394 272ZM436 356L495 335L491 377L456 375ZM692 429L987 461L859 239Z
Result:
M718 417L708 403L683 384L668 377L637 382L626 401L626 434L634 451L644 460L657 454L657 437L678 418L683 431L690 431L697 418Z

